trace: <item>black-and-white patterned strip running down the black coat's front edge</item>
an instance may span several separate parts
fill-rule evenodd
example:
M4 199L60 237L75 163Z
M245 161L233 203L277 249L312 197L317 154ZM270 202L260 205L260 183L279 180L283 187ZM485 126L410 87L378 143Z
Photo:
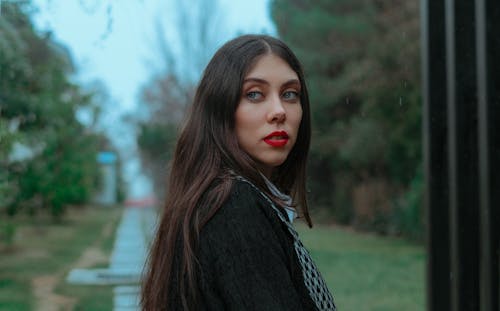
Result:
M255 188L269 202L271 207L276 211L278 217L287 226L288 231L290 232L294 240L293 245L295 248L295 253L299 258L300 266L302 267L302 275L304 277L305 285L318 310L336 311L337 309L335 307L332 294L328 290L328 287L326 286L323 277L319 273L318 268L314 264L311 255L300 241L299 235L297 231L295 231L295 228L292 226L290 221L286 219L286 217L284 217L283 214L276 208L273 201L269 199L266 194L260 191L254 184L240 176L236 177L236 179L244 181Z

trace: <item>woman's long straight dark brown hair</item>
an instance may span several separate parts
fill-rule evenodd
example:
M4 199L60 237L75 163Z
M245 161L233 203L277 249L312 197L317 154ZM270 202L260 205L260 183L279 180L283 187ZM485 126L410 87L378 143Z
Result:
M142 286L143 310L166 310L171 299L180 301L187 310L197 305L198 236L227 198L233 181L231 174L245 177L270 195L255 162L239 148L235 134L235 111L243 80L259 57L269 53L282 58L297 73L302 106L297 141L285 162L273 170L271 179L280 190L292 195L301 216L312 226L305 182L311 123L301 65L276 38L240 36L224 44L205 68L177 141L165 208ZM169 294L174 287L180 297Z

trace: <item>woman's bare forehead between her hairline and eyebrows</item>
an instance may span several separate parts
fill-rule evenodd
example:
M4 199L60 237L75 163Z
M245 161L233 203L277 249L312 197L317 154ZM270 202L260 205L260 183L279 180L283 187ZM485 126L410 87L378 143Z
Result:
M250 67L245 78L291 80L298 79L298 76L284 59L274 54L265 54Z

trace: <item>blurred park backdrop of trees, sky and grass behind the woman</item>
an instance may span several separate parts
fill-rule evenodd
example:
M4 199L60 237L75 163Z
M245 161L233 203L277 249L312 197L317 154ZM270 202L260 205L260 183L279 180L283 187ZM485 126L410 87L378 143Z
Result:
M298 228L337 305L424 310L419 29L404 0L0 0L0 310L134 310L118 249L143 260L201 72L244 33L303 63Z

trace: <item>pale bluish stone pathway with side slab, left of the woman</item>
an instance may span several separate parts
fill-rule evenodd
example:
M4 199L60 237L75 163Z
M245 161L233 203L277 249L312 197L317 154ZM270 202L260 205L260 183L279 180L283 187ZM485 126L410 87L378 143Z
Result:
M73 269L67 281L74 284L116 285L113 310L139 310L139 283L146 261L149 238L155 225L156 212L153 207L125 207L116 231L109 268Z

